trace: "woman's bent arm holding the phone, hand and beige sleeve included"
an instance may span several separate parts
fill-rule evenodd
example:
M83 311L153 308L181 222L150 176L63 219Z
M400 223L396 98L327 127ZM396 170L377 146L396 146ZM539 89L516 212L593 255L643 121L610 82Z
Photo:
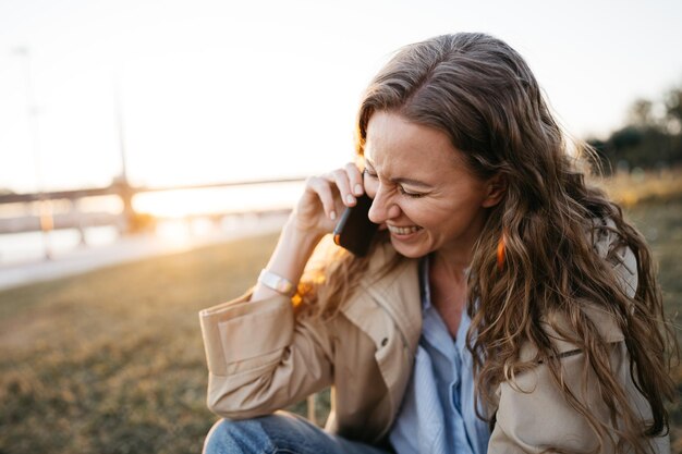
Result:
M309 179L267 269L297 283L337 212L355 204L353 164ZM357 194L357 193L355 193ZM342 198L344 201L342 201ZM329 326L296 319L288 296L257 284L253 294L200 312L209 369L208 406L224 417L265 415L319 391L332 380Z

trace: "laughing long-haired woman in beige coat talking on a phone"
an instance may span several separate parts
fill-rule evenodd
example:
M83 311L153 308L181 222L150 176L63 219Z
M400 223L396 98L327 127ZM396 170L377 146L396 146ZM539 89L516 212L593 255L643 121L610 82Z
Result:
M309 179L253 292L200 315L229 418L206 452L669 450L650 251L585 184L523 59L480 34L407 46L357 138L362 173ZM310 259L363 193L369 255ZM271 415L328 385L326 431Z

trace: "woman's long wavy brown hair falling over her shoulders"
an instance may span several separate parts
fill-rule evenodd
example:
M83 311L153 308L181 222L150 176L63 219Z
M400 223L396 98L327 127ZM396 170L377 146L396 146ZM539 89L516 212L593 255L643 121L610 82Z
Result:
M492 393L501 382L513 384L515 375L544 363L567 402L596 433L597 451L611 444L648 452L649 438L668 431L665 402L674 396L669 352L678 352L665 322L651 254L621 209L586 184L581 162L590 150L567 140L523 58L484 34L444 35L406 46L376 75L362 100L361 156L377 111L443 131L474 174L500 174L507 183L474 246L468 281L467 346L483 407L495 407ZM608 265L614 258L595 253L598 229L617 233L619 245L635 254L634 297L621 290ZM324 312L338 310L348 295L344 289L353 287L346 284L356 282L365 268L366 260L350 255L334 262L327 272L330 285L320 290L326 293L321 299L329 300ZM649 426L643 427L613 376L609 345L587 316L585 300L610 314L622 330L634 383L651 407ZM543 328L556 319L567 326L549 321L551 328L583 353L585 381L596 376L609 420L594 415L562 380L559 352ZM521 347L527 343L538 353L522 361Z

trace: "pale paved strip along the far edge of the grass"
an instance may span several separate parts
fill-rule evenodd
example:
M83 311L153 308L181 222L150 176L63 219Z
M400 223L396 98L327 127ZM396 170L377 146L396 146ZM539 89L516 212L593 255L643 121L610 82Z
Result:
M106 246L82 247L57 255L50 260L0 265L0 290L39 281L74 275L109 265L135 261L146 257L174 254L210 244L277 232L285 216L268 217L245 222L229 232L190 237L180 242L162 240L151 234L121 238Z

